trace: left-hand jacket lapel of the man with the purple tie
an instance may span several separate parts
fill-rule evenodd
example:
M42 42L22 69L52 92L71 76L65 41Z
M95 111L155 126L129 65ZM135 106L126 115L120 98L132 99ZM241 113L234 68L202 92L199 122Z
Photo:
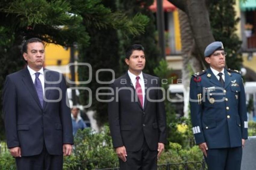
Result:
M24 68L22 76L23 76L22 81L25 84L25 86L27 87L29 93L33 96L33 99L36 101L38 106L42 109L42 106L39 102L39 98L38 98L38 95L37 95L37 92L36 92L36 88L33 84L31 75L30 75L27 68Z

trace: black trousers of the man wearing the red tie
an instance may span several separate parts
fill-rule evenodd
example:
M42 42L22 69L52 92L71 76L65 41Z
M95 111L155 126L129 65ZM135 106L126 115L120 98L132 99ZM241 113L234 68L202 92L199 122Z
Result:
M156 170L157 150L150 150L144 139L142 148L137 152L127 152L126 162L119 158L120 170Z

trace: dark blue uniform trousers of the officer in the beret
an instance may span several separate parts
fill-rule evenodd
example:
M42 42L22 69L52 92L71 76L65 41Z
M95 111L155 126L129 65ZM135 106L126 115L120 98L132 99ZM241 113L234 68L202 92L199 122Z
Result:
M240 170L242 147L208 149L204 158L208 170Z

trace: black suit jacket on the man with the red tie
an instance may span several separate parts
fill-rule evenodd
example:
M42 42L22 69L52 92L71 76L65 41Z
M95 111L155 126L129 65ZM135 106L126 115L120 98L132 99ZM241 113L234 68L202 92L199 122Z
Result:
M142 108L128 73L117 78L110 87L113 101L108 104L108 119L113 146L125 146L126 151L138 151L144 138L150 150L157 150L158 142L166 143L166 115L158 77L143 73L145 101Z

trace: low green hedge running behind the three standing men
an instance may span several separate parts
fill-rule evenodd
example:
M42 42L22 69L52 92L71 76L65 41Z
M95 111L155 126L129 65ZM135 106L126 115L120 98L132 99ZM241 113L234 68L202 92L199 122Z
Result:
M169 143L158 164L202 161L203 155L197 146L184 148L178 143ZM108 126L100 133L86 128L75 136L73 154L64 157L64 170L113 168L118 167L118 157L113 149ZM16 169L15 159L8 151L0 154L0 169ZM190 170L194 168L190 167Z

